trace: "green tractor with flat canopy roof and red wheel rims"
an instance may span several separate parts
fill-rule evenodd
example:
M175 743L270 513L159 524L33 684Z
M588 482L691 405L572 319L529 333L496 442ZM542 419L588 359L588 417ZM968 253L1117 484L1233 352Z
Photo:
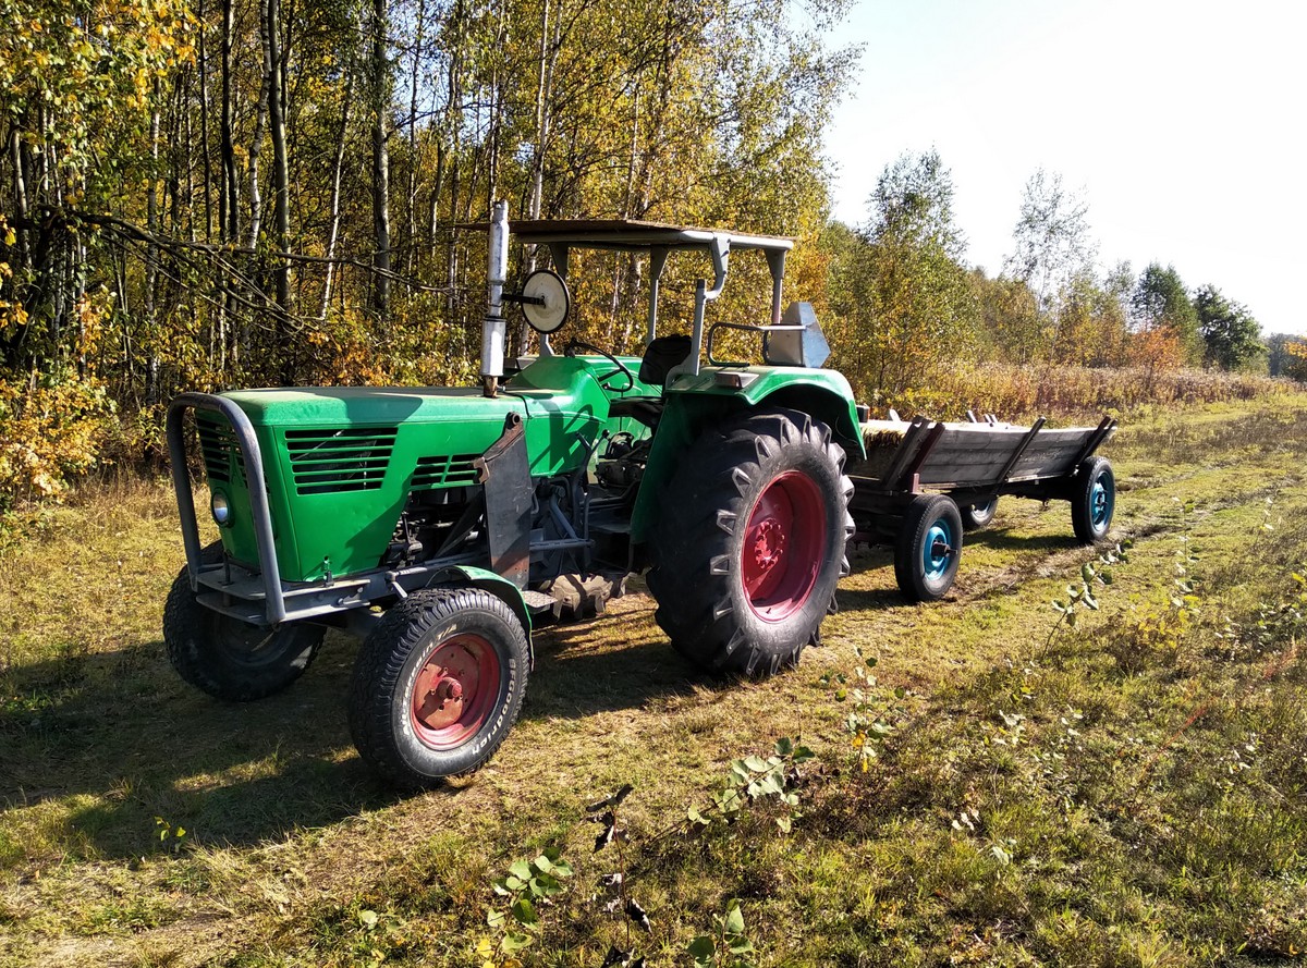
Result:
M167 439L187 566L167 600L169 657L227 700L269 696L328 628L365 639L349 725L401 786L481 767L518 718L532 618L599 610L647 572L674 648L719 673L765 675L818 640L847 573L864 457L847 380L821 368L812 307L782 312L792 242L612 221L520 222L553 270L506 290L508 219L489 226L480 388L284 388L184 393ZM563 340L569 253L640 252L643 358ZM707 253L689 334L657 332L672 253ZM772 280L766 325L706 327L736 252ZM505 366L507 303L540 354ZM761 340L763 366L715 358L724 329ZM559 338L555 350L553 338ZM201 547L191 427L221 541Z

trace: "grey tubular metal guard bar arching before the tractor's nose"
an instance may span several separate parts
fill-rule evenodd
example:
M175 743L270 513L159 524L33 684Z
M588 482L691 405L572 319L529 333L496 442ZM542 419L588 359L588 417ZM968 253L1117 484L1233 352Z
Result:
M186 435L183 417L187 410L218 413L231 425L238 453L244 462L250 489L250 512L254 516L254 536L259 547L259 571L263 575L264 618L269 626L286 619L286 598L281 588L277 567L277 549L272 537L272 509L268 507L268 489L263 476L263 456L259 439L244 411L230 400L212 393L182 393L167 409L167 451L173 462L173 490L182 519L182 542L186 545L186 570L191 576L191 589L200 590L203 570L200 525L195 517L195 498L191 490L191 472L186 464Z

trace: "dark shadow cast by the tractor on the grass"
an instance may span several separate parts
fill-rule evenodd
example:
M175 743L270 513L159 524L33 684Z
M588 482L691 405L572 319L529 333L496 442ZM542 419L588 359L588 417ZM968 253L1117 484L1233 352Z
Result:
M681 658L644 609L623 611L541 630L524 720L731 687ZM0 844L31 839L59 853L132 860L166 849L162 819L191 843L248 847L413 797L380 782L354 751L346 699L356 653L354 641L328 635L294 686L239 704L183 683L161 641L5 670ZM443 785L426 796L459 794Z

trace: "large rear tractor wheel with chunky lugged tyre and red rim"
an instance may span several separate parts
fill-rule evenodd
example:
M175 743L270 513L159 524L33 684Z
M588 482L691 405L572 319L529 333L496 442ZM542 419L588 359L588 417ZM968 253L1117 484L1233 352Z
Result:
M792 665L848 573L852 485L830 428L761 410L710 428L680 461L650 538L657 623L695 665Z

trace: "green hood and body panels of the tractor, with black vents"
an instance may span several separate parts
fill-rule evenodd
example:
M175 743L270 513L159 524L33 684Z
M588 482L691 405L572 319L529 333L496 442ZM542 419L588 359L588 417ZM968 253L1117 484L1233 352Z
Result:
M625 362L639 368L638 359ZM409 495L476 486L472 462L499 438L510 411L524 417L533 477L576 470L600 434L634 425L609 417L610 400L657 398L657 389L639 380L625 393L605 391L595 379L605 370L612 363L603 358L546 357L493 400L476 388L443 387L223 393L259 438L282 580L379 567ZM223 432L221 422L200 419L209 486L233 507L222 545L233 560L256 567L243 461Z

